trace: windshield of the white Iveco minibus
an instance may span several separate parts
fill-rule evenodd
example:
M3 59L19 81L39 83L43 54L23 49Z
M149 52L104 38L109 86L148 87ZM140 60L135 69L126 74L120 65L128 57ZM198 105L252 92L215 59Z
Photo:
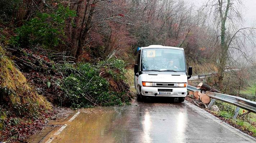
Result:
M141 71L186 72L183 50L169 48L142 49Z

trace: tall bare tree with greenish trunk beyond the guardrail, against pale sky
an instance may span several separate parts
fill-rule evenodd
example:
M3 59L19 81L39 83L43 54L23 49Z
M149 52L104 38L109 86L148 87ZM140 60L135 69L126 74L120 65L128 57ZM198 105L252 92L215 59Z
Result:
M242 51L244 47L245 39L251 39L250 34L246 33L246 30L251 31L255 28L238 28L243 22L239 8L242 6L240 0L209 0L206 3L207 6L211 6L210 14L214 15L215 26L217 28L217 43L219 43L219 51L217 57L218 66L218 81L221 84L224 76L227 62L232 57L230 56L230 50L236 49L243 54L246 58L246 54ZM252 41L252 43L254 43Z

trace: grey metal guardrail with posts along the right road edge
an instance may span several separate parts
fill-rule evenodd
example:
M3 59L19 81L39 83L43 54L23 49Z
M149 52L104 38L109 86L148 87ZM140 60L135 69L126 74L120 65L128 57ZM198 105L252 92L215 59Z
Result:
M196 87L193 87L191 85L187 85L187 89L190 91L201 91L200 89L197 89ZM216 100L235 105L237 108L235 110L233 119L237 118L240 108L256 113L256 102L253 102L251 100L215 92L206 92L206 94L212 98L207 108L210 108Z

